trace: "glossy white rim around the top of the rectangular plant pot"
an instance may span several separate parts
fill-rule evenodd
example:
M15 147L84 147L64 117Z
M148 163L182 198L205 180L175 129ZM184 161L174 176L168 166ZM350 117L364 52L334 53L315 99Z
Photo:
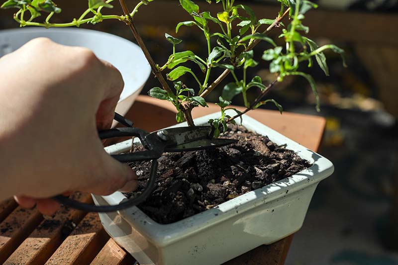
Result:
M227 110L226 114L234 115L233 110ZM207 124L208 119L219 117L220 113L209 114L195 119L196 124ZM144 234L148 240L156 242L159 246L167 246L182 238L189 237L193 234L205 230L209 226L220 223L232 216L242 214L260 204L271 203L275 200L283 199L288 193L293 193L303 189L307 185L317 184L320 180L330 176L334 171L333 164L326 158L310 151L309 149L299 145L293 140L283 136L255 119L243 115L243 122L240 119L237 123L243 125L247 129L259 134L267 135L271 141L278 145L286 144L303 158L308 160L312 166L291 177L284 178L274 183L268 184L262 188L252 190L248 193L230 199L204 212L198 213L191 217L185 218L171 224L159 224L142 212L138 207L134 206L129 209L119 211L118 213L139 233ZM171 127L187 126L187 123L181 123ZM139 143L139 141L134 141ZM105 148L109 154L117 154L130 149L132 140L127 140ZM117 204L126 199L121 192L115 192L109 196L102 196L109 204Z

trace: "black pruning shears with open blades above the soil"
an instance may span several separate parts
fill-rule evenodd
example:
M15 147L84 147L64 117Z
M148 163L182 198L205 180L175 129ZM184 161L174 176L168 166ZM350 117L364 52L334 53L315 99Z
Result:
M137 197L124 200L117 205L96 206L72 200L62 195L55 196L55 200L65 206L88 212L114 212L126 209L145 201L152 193L157 176L157 159L164 153L214 149L237 142L237 140L233 139L214 138L213 128L211 126L169 128L149 133L133 127L133 123L130 120L117 113L115 113L114 119L126 127L100 131L100 139L105 140L118 137L139 138L146 151L113 155L112 157L121 163L152 161L151 173L146 189Z

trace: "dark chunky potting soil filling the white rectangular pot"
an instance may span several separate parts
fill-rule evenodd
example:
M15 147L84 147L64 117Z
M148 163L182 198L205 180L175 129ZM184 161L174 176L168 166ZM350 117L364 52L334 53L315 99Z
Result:
M158 160L155 189L138 208L154 221L170 224L311 166L294 151L242 126L232 126L221 137L239 142L214 150L163 155ZM142 150L134 147L132 151ZM128 165L138 176L138 190L125 194L131 197L145 189L151 163Z

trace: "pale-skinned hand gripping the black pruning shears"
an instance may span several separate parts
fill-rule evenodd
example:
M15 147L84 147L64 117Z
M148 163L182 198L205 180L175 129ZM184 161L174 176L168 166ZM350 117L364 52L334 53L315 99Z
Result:
M103 150L124 83L85 48L34 39L0 59L0 202L52 215L54 195L108 195L137 187L135 173Z

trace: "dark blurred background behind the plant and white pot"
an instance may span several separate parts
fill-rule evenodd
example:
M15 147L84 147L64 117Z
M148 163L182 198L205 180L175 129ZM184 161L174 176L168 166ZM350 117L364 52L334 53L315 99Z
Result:
M189 20L189 16L176 7L175 0L156 1L152 7L143 8L135 19L155 61L162 65L172 52L164 33L175 33L175 25ZM56 2L63 12L54 16L54 22L69 22L87 6L87 1ZM275 18L280 8L274 5L275 0L242 2L250 4L259 18ZM319 4L318 10L308 12L303 22L310 27L308 36L318 44L334 43L343 48L348 68L343 68L339 56L328 53L330 77L325 77L317 66L309 70L320 93L320 113L315 110L310 87L301 78L287 79L270 94L285 111L327 119L320 153L336 168L334 175L322 181L315 192L304 226L293 240L287 264L396 265L398 0L315 2ZM212 5L209 9L215 13L218 7ZM11 19L12 12L0 12L1 29L18 26ZM115 8L111 12L121 11ZM82 27L133 41L129 29L118 21ZM279 33L277 29L272 35ZM199 30L183 27L177 37L184 40L177 46L178 50L192 50L206 57L203 54L206 43ZM267 46L256 50L260 54L265 48ZM261 64L253 76L259 75L265 82L274 80L267 63ZM219 74L214 72L210 80ZM189 85L190 80L185 83ZM150 78L142 94L155 86L157 81ZM214 91L207 100L216 102L219 94L219 90ZM242 101L236 98L233 104L242 105Z

